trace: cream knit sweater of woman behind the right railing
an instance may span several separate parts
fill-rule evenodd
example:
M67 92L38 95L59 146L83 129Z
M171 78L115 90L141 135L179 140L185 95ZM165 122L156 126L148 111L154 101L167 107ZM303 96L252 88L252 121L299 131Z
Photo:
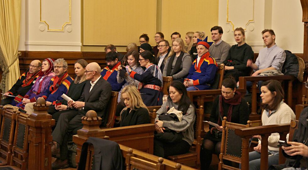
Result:
M267 110L263 111L262 114L262 125L279 125L283 123L290 123L292 119L295 120L295 114L293 110L284 102L281 102L277 111L267 116ZM287 135L287 141L289 139L289 134ZM272 133L268 136L268 150L269 151L279 151L279 133ZM259 140L261 144L261 140Z

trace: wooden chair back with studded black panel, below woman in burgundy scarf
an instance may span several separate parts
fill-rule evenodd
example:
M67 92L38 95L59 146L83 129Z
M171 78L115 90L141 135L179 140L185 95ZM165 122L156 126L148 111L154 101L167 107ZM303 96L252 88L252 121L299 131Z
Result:
M242 159L242 139L238 135L235 135L235 129L249 127L249 122L247 125L241 125L236 123L227 122L227 117L223 117L223 135L221 140L220 154L218 169L236 169L239 168L231 167L229 165L223 164L223 160L229 160L236 163L241 163Z

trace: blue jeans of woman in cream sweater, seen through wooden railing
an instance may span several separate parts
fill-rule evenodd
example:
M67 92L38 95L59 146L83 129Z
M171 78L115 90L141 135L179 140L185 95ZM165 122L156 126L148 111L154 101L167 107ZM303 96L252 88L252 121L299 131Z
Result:
M268 154L273 154L268 157L268 166L279 164L279 152L268 151ZM257 151L249 152L249 169L250 170L260 170L261 164L261 153ZM241 169L241 164L239 164L239 169Z

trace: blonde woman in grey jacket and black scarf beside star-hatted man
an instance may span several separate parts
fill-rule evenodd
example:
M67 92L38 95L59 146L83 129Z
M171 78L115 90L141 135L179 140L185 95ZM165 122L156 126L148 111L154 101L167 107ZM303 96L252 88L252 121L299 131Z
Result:
M165 61L162 76L171 76L173 80L184 82L184 78L186 78L192 64L192 59L185 50L184 41L181 38L173 40L172 48Z

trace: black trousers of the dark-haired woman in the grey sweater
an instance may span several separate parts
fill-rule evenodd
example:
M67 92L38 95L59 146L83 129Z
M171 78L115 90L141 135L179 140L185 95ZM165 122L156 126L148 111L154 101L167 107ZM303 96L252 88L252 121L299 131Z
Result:
M154 138L154 155L157 157L167 158L168 156L180 155L187 153L190 144L184 140L178 143L166 143Z

